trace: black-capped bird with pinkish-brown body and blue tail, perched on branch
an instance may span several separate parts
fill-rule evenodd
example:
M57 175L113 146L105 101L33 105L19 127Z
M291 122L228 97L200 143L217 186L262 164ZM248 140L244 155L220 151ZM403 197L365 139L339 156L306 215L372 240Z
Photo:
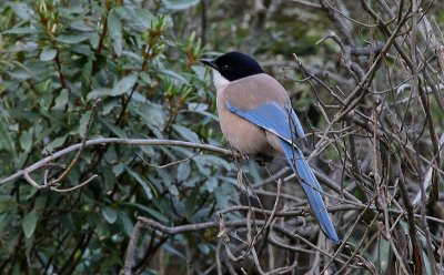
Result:
M212 70L225 140L244 155L273 159L283 154L299 176L322 232L332 243L340 244L322 200L322 187L302 153L305 133L286 90L242 52L231 51L200 62Z

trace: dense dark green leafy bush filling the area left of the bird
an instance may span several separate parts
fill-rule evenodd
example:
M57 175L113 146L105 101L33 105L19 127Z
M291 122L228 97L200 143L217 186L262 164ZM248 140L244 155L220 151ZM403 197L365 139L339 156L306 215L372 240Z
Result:
M201 42L194 33L178 40L169 13L198 1L147 8L121 1L68 2L0 4L1 179L81 142L98 99L89 139L219 144L209 128L215 118L206 94L209 78L196 62ZM190 162L155 169L141 159L162 165L195 153L170 146L88 147L59 186L98 174L85 187L56 193L37 191L23 180L2 184L0 269L117 273L137 216L165 225L212 220L214 210L226 204L218 194L231 193L236 200L235 189L216 180L231 170L226 161L202 152ZM73 157L71 153L57 163L69 164ZM50 170L49 180L60 171ZM32 177L42 183L43 170ZM153 245L138 259L152 257ZM206 253L213 249L204 247ZM186 255L175 253L185 266Z

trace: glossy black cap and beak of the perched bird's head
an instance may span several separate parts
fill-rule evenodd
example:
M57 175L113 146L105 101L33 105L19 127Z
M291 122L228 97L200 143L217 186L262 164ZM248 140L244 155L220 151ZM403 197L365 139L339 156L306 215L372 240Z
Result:
M253 58L236 51L228 52L214 60L201 59L201 62L218 70L229 81L264 72Z

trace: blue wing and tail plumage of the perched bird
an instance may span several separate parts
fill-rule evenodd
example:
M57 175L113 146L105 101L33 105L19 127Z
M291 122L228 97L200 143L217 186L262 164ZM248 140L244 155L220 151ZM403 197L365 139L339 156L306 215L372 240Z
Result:
M282 151L294 173L302 180L302 189L309 198L310 206L322 231L333 243L340 243L320 194L322 187L306 163L301 150L297 147L299 143L295 138L302 138L304 132L294 111L290 106L285 108L289 110L283 110L274 102L261 104L249 111L242 111L228 101L225 105L231 112L280 138Z

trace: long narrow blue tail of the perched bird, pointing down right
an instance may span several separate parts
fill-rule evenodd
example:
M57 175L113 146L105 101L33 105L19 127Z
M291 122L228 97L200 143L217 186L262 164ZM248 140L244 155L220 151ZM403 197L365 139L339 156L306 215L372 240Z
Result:
M317 192L322 192L322 187L306 163L304 155L302 154L301 150L292 146L286 141L281 140L280 142L290 166L293 169L294 173L302 179L302 189L309 198L310 206L312 207L312 211L314 212L322 231L334 244L339 244L340 238L337 237L337 233L334 230L332 221L330 220L329 212L325 208L322 196Z

